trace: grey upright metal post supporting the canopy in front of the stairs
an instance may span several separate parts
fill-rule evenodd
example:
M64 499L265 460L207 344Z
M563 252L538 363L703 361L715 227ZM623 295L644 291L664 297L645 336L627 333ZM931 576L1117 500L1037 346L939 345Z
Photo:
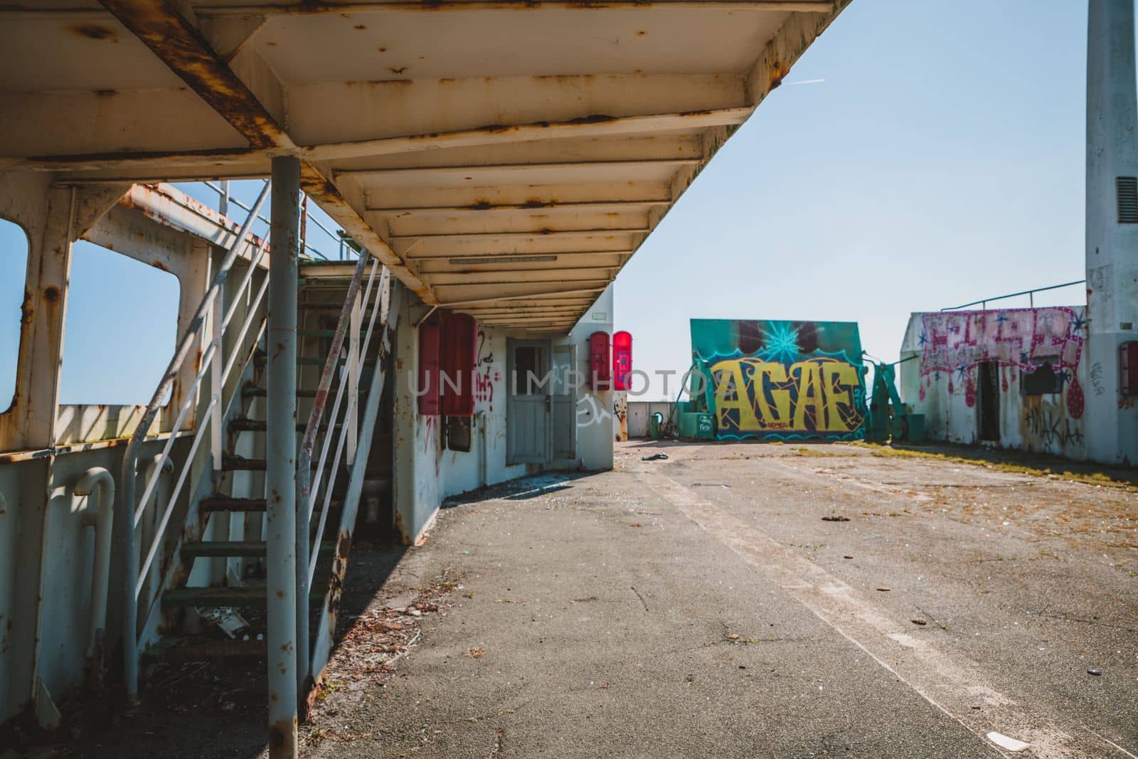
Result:
M269 756L296 757L296 313L300 162L273 158L265 500Z

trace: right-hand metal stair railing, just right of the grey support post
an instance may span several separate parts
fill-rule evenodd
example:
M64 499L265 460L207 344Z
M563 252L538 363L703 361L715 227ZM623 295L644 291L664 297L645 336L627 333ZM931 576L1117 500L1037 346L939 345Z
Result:
M364 272L369 269L368 286L361 292ZM382 270L382 273L379 275L377 288L376 275L380 270ZM352 281L348 284L339 321L336 324L336 331L332 333L328 357L321 371L320 385L316 388L312 412L308 415L308 423L305 427L304 438L300 443L300 451L297 459L296 599L297 661L300 663L297 678L302 690L305 685L304 680L308 676L308 667L311 665L308 657L308 589L312 587L312 581L316 574L320 545L328 525L328 515L331 511L332 494L336 489L340 463L345 460L346 455L347 463L360 467L366 465L366 452L364 452L363 459L356 457L360 418L360 374L371 346L372 335L376 329L376 317L381 311L379 307L380 300L389 287L389 281L390 273L379 263L379 259L368 255L360 256ZM372 298L373 292L376 294L374 299ZM366 329L362 329L363 315L368 313L369 307L371 313L368 325ZM347 337L347 346L345 346L345 337ZM345 348L346 355L344 355ZM374 371L379 371L379 368L377 366ZM336 380L339 380L336 388L336 397L332 402L331 413L328 415L328 423L323 426L323 437L320 440L320 456L316 460L315 469L313 469L312 461L316 449L318 436L320 436L321 424L324 420L328 397ZM344 409L341 418L340 407L344 405L345 399L347 405ZM337 428L339 429L338 434L336 432ZM336 449L332 457L329 459L333 438L336 438ZM318 521L315 535L312 535L312 520L314 518L318 518Z

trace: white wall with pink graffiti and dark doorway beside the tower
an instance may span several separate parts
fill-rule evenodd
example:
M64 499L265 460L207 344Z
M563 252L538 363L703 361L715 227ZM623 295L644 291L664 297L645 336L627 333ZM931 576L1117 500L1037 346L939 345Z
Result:
M1082 307L913 314L901 395L930 437L1085 456Z

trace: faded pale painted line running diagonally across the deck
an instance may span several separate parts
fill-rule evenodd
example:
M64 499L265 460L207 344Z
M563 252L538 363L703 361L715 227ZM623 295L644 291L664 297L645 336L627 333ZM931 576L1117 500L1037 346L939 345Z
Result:
M1033 757L1113 756L1113 752L1104 753L1105 745L1077 742L1053 719L991 687L975 662L954 658L920 637L901 633L904 622L891 619L849 585L759 528L723 512L668 477L643 471L638 477L687 519L777 583L834 632L975 735L993 753L1001 752L989 741L988 733L998 728L1001 733L1022 736L1031 744ZM976 706L981 709L973 708Z

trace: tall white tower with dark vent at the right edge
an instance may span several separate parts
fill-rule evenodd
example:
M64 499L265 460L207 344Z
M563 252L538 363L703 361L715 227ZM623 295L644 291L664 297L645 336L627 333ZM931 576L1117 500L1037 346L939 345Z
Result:
M1087 453L1138 463L1138 404L1119 391L1119 346L1138 340L1135 0L1090 0L1087 30Z

